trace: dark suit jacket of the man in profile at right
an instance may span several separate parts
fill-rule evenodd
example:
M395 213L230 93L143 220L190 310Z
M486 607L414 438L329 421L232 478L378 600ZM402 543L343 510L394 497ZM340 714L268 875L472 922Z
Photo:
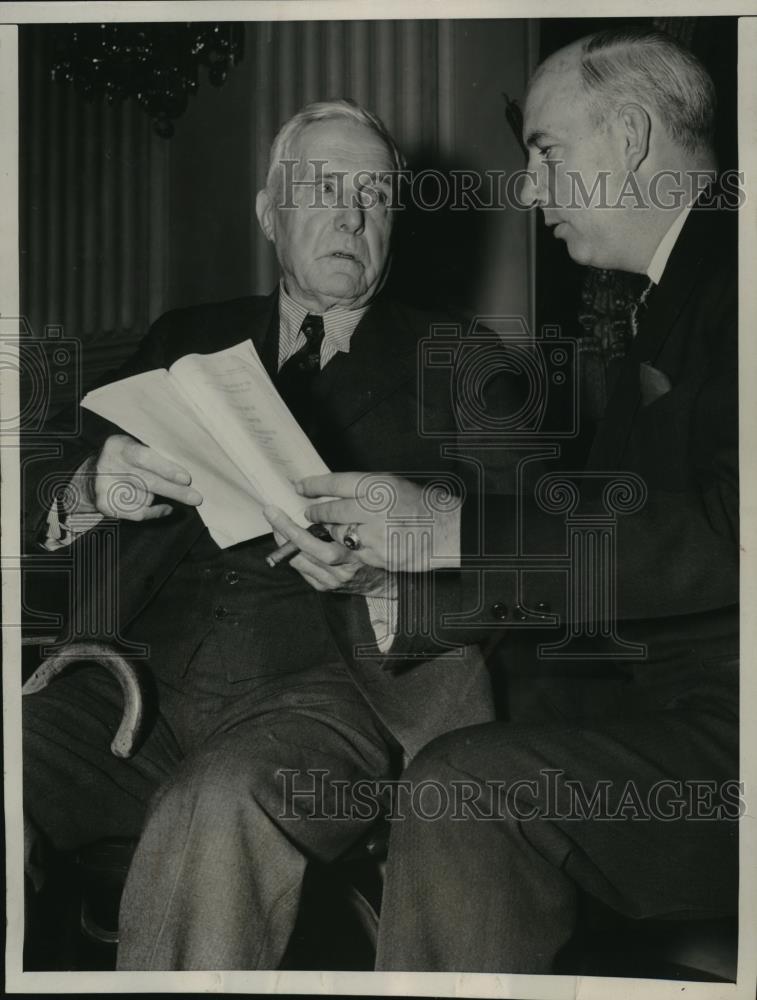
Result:
M737 279L735 213L695 207L650 297L588 462L588 471L600 474L595 482L604 473L631 472L647 492L640 510L617 516L616 560L618 634L645 643L648 651L615 665L636 682L629 690L643 690L644 705L669 705L682 695L717 693L732 703L736 697ZM650 385L649 365L667 378L653 373ZM669 391L658 395L666 383ZM580 512L601 513L587 478L576 482ZM463 565L472 567L484 555L487 568L436 574L430 613L437 637L482 640L504 629L512 638L524 617L519 609L531 623L540 611L555 614L563 628L580 616L565 572L539 567L540 558L567 554L565 514L546 512L533 496L522 502L520 515L516 508L515 496L496 494L465 505ZM531 561L505 568L517 531L520 551ZM420 613L417 584L418 593L408 594L402 607L414 603ZM559 628L547 636L552 642ZM408 634L406 622L401 637ZM403 641L416 652L434 648L428 641ZM586 651L596 651L596 643L587 641ZM723 663L722 671L715 666Z

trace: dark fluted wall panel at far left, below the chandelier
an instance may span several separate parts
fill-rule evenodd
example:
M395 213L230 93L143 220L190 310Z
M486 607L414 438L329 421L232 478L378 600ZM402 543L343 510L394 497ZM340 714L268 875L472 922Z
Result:
M36 337L78 338L96 378L162 305L167 149L133 103L50 80L49 28L22 29L20 50L22 308Z

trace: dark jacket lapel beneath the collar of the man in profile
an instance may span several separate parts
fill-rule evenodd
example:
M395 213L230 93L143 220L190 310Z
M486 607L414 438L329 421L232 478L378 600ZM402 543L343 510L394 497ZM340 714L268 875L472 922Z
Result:
M604 419L592 445L590 468L610 471L619 466L641 403L639 365L654 364L688 298L694 291L707 250L705 209L692 209L659 286L650 296L647 314L625 358Z

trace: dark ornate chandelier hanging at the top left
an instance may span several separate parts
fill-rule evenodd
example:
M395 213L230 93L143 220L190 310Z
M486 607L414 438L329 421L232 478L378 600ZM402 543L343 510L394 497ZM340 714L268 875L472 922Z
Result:
M220 87L243 52L239 23L66 24L55 31L51 76L88 100L134 98L167 139L197 91L200 67Z

